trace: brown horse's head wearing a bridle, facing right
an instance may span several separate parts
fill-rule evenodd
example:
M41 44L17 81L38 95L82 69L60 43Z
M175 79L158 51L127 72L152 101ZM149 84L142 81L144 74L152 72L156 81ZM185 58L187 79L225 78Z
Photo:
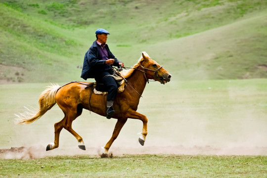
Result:
M172 75L156 61L152 60L146 52L142 52L143 60L139 63L147 79L165 84L171 81Z

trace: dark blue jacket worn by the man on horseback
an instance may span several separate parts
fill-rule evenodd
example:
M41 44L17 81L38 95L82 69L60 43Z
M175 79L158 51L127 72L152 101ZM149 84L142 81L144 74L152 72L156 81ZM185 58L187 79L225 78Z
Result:
M115 59L114 66L119 66L119 61L109 50L108 45L105 45L108 52L109 59ZM84 65L82 70L81 78L87 80L89 78L94 78L97 71L102 70L106 66L106 60L100 59L99 49L97 43L94 41L90 46L89 50L85 54Z

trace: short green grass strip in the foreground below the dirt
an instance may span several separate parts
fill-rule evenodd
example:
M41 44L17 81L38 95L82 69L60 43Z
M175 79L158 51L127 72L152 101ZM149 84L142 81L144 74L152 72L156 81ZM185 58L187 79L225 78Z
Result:
M266 156L56 156L1 160L3 178L264 178Z

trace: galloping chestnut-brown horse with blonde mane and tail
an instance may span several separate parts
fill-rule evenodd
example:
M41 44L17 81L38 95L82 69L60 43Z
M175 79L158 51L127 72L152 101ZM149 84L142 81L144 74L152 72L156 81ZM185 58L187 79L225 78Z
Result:
M115 115L113 118L118 119L118 121L110 140L104 147L101 157L108 156L111 144L117 138L128 118L139 119L143 122L139 143L144 145L147 135L147 118L136 112L141 94L149 79L159 81L161 84L171 80L171 75L157 62L152 60L146 52L142 52L142 56L133 68L123 70L119 75L117 78L122 79L123 77L127 81L124 91L118 93L114 101ZM123 82L125 81L123 80ZM55 140L54 143L47 145L46 151L59 146L59 134L63 128L73 134L79 142L79 148L85 150L83 138L72 129L72 122L82 114L83 108L101 116L106 116L106 95L103 97L103 95L95 94L91 92L92 89L92 83L87 82L73 82L63 87L52 85L40 95L39 111L32 115L29 113L17 115L18 124L30 124L36 121L57 103L65 117L58 123L55 123Z

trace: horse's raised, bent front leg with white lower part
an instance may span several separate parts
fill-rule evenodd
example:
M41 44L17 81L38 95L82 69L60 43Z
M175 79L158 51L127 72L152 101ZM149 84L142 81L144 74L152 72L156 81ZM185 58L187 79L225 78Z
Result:
M127 112L126 116L128 118L132 118L132 119L139 119L143 122L143 130L140 133L141 136L139 136L139 143L143 146L144 142L145 142L145 137L147 135L147 118L145 115L142 115L136 111L134 111L133 109L131 109L129 112Z

